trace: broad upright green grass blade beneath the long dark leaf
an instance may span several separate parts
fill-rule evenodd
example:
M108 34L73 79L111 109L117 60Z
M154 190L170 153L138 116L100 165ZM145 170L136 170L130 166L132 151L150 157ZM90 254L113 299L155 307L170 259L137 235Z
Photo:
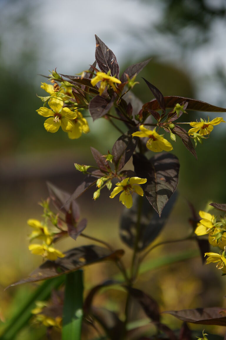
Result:
M83 272L66 275L62 340L80 340L83 318Z

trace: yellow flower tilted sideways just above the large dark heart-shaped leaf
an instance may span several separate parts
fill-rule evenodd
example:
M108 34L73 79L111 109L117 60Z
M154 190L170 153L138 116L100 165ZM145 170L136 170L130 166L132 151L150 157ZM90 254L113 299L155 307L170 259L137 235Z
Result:
M132 133L132 136L137 137L148 137L147 148L153 152L161 152L161 151L171 151L173 149L170 142L167 139L163 138L163 135L159 135L156 132L156 128L154 130L148 130L144 128L144 125L140 126L140 131Z

